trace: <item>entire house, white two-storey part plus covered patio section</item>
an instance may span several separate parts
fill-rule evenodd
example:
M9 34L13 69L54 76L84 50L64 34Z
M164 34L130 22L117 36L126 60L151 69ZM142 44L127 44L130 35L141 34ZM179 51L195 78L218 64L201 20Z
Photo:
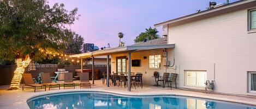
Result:
M142 73L143 83L148 85L154 84L152 76L157 71L160 76L164 72L178 74L180 88L205 89L205 81L214 80L215 92L256 95L256 0L225 4L154 26L163 26L166 41L151 40L72 57L111 56L109 74ZM133 60L140 64L133 66ZM165 67L168 63L174 66Z

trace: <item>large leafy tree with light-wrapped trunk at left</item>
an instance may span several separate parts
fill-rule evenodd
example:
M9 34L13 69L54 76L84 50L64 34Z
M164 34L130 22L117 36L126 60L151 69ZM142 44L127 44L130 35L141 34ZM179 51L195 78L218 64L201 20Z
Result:
M72 30L66 28L78 20L78 9L64 9L46 0L0 1L0 59L15 60L17 68L9 89L19 88L22 74L31 59L44 59L41 51L61 53Z

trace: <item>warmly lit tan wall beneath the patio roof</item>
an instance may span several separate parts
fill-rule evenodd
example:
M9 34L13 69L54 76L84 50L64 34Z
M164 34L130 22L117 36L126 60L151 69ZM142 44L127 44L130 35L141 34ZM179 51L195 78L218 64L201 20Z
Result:
M169 55L169 60L171 60L171 64L172 64L172 59L173 59L173 54L172 54L172 50L173 49L168 49L168 55ZM131 72L134 73L142 73L142 79L144 84L148 84L148 85L154 85L154 78L153 73L154 71L159 72L160 76L163 76L163 73L165 72L165 67L163 65L165 65L165 59L163 57L161 57L161 66L159 69L150 69L148 67L148 58L149 55L163 55L163 50L149 50L149 51L144 51L144 52L133 52L131 53L131 60L135 60L135 59L139 59L141 60L141 66L140 67L132 67L131 66ZM115 55L111 55L111 73L115 72L116 73L116 57L118 56L127 56L127 54L115 54ZM147 59L144 59L144 56L147 56ZM128 61L128 60L127 60ZM128 64L128 62L127 62ZM128 66L128 65L127 65ZM169 73L176 73L176 70L173 67L170 67L167 69L167 72Z

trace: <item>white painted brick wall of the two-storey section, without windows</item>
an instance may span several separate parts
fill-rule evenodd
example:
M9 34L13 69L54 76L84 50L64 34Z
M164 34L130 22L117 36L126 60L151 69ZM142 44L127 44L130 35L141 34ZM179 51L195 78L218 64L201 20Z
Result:
M216 92L247 93L247 72L256 71L256 33L247 32L247 10L231 12L168 29L175 43L179 87L184 70L207 70ZM214 67L215 65L215 67Z

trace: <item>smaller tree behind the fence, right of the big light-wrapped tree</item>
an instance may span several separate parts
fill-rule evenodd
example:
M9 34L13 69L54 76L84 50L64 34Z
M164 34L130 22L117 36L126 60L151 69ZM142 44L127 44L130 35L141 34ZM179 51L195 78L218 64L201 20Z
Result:
M81 35L73 33L70 37L70 41L67 45L67 54L79 54L82 53L82 46L84 44L84 38Z

